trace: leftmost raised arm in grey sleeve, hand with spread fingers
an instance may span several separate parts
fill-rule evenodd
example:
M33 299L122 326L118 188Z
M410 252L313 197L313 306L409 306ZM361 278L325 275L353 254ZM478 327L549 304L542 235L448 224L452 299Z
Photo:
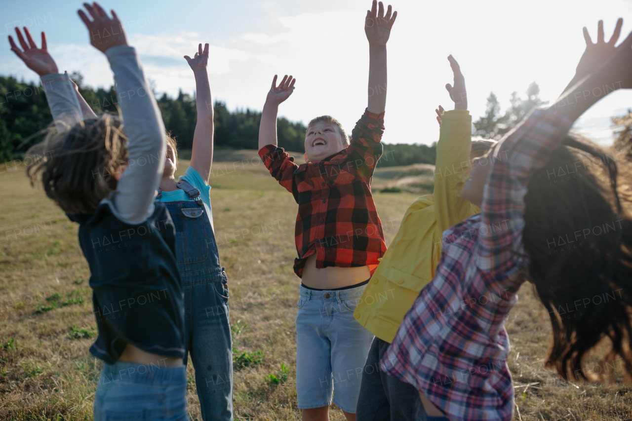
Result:
M16 46L13 38L9 35L11 51L15 52L30 70L35 71L40 76L42 86L46 92L46 101L57 130L61 133L74 126L78 121L82 121L84 116L75 95L74 82L70 80L68 73L59 73L57 64L48 52L46 34L42 32L42 48L37 48L33 37L31 37L26 27L24 28L24 34L27 37L28 44L20 32L20 28L16 27L15 33L21 49Z

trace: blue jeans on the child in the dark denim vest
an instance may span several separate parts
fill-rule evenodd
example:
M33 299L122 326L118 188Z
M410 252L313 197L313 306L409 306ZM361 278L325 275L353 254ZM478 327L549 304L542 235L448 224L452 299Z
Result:
M186 367L105 364L94 396L95 421L188 421Z

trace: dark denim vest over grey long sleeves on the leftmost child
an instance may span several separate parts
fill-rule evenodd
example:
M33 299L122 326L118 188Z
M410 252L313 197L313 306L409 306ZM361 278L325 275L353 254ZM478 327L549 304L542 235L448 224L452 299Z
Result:
M90 266L99 336L90 353L113 364L132 343L143 351L183 358L183 290L174 257L175 232L166 207L140 224L118 219L102 203L80 224L79 244Z

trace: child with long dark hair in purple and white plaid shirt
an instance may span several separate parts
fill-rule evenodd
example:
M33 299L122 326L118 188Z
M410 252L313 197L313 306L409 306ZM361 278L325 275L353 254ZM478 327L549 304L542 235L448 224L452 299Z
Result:
M619 355L632 374L632 219L617 191L616 163L604 159L602 180L599 171L581 163L603 152L567 135L599 99L632 88L632 34L614 46L621 23L609 42L602 27L596 44L585 32L586 51L568 90L549 109L534 111L471 169L461 194L481 212L444 232L444 243L457 240L443 248L435 278L381 361L389 375L420 391L429 420L511 419L514 388L504 321L525 281L535 285L549 310L549 366L566 379L584 378L586 353L609 338L606 358ZM559 168L578 176L550 183ZM595 226L612 229L585 234ZM581 247L550 253L551 238L567 235ZM586 304L595 295L610 302ZM562 317L561 308L574 309L576 317Z

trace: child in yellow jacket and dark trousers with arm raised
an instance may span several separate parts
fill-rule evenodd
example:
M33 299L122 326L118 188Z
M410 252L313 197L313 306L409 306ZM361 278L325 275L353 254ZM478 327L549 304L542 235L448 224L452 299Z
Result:
M379 360L399 329L419 291L435 275L441 258L443 231L480 209L461 197L470 161L494 145L492 140L471 141L465 79L449 56L454 86L446 85L454 110L439 106L441 126L437 142L434 193L410 205L397 236L380 260L355 310L355 318L375 335L362 374L357 420L415 420L423 412L415 387L381 372ZM446 244L449 242L446 241Z

